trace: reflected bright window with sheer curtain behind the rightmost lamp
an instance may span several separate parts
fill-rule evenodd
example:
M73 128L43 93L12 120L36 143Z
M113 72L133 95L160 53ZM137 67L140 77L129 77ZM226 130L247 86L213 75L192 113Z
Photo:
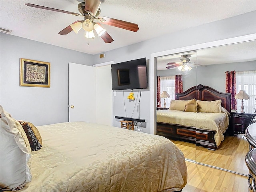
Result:
M237 71L236 72L236 93L240 90L250 96L249 100L244 100L244 111L254 113L256 108L256 70L255 71ZM237 111L241 111L241 100L237 99Z

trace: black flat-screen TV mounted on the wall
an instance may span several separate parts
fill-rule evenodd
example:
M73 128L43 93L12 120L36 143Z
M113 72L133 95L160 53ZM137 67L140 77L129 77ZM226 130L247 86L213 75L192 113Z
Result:
M111 65L112 90L148 88L146 58Z

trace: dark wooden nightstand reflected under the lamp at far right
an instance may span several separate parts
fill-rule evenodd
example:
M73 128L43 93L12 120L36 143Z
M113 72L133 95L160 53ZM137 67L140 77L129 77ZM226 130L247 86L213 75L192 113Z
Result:
M244 134L244 130L252 119L252 113L231 113L231 125L234 134Z

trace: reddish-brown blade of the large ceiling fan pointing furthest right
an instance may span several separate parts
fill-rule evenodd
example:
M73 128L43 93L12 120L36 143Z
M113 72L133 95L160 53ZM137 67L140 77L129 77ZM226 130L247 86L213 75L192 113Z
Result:
M113 18L104 17L104 16L100 16L98 18L98 20L102 24L111 25L111 26L114 26L114 27L119 27L119 28L126 29L126 30L129 30L129 31L136 32L136 31L139 30L138 24L130 23L130 22L127 22L127 21L122 21L122 20L113 19Z

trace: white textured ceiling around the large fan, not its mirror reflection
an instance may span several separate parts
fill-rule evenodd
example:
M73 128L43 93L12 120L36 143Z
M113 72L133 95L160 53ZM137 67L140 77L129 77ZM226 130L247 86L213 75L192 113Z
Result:
M102 25L114 42L101 38L87 39L85 31L59 35L62 29L81 17L32 8L25 3L78 12L81 0L0 0L0 27L12 35L52 44L88 54L98 54L172 33L185 28L214 22L256 10L255 0L104 0L101 16L137 23L131 32ZM89 45L88 45L89 43Z

